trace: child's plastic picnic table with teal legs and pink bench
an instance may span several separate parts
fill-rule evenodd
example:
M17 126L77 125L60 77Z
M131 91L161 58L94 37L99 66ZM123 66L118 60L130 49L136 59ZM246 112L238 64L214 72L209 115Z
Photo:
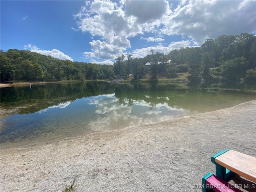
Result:
M235 174L256 182L256 158L234 150L225 149L211 158L215 164L216 175L208 173L202 178L203 192L213 189L216 192L241 192L228 184Z

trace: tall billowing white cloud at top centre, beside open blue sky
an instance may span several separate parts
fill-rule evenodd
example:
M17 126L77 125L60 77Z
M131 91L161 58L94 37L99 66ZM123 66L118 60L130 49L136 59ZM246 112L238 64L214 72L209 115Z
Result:
M86 58L113 60L130 48L128 37L141 31L139 26L131 24L134 20L126 19L122 6L115 2L93 1L74 16L79 19L78 28L82 32L102 37L90 42L92 51L84 52Z

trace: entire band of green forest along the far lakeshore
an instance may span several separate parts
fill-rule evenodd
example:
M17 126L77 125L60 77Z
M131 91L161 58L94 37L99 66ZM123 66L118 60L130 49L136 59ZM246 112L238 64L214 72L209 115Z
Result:
M1 74L13 74L15 82L114 80L129 74L134 80L146 74L153 79L177 78L180 73L188 73L189 82L202 86L256 82L256 36L248 33L222 35L200 47L181 47L168 54L151 50L144 58L121 55L113 65L59 60L17 49L1 50L0 59Z

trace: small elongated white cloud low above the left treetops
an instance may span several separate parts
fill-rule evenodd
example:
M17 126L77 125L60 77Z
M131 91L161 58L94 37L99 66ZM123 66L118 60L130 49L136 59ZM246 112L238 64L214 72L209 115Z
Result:
M37 46L31 45L31 44L24 45L24 49L30 49L31 52L36 52L36 53L40 53L42 55L47 55L47 56L50 55L50 56L53 56L54 58L61 59L61 60L73 61L73 59L70 56L65 55L63 52L57 49L53 49L51 51L40 50Z

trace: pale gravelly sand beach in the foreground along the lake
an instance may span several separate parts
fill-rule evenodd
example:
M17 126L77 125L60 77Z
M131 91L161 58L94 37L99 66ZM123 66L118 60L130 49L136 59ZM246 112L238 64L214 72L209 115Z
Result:
M256 101L123 130L1 150L1 192L201 192L210 157L256 156ZM252 165L252 166L256 166ZM233 184L252 182L236 176ZM256 187L256 185L255 185ZM241 189L255 191L255 188Z

